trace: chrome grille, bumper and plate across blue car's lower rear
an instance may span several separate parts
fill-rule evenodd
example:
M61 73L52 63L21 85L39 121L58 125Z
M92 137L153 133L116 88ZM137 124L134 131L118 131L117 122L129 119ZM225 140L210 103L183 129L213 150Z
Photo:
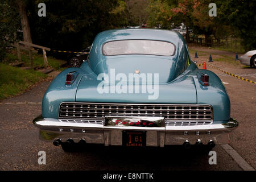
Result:
M172 144L229 143L238 126L213 123L213 107L201 104L121 104L62 102L59 118L39 117L40 137L55 145L72 142L105 146L164 147Z

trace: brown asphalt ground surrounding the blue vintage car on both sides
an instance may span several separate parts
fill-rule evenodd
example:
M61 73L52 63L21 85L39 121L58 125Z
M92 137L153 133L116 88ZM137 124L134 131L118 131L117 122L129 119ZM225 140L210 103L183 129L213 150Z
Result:
M207 57L200 57L199 63L204 59ZM256 80L256 69L213 64L237 75L251 74L246 78ZM255 168L256 85L209 69L228 83L225 87L232 104L231 116L240 122L230 145ZM144 150L92 146L83 151L64 152L61 147L42 142L32 124L32 120L41 114L38 102L42 101L49 83L42 82L20 96L2 101L5 105L0 104L1 170L242 170L221 146L213 148L217 153L217 164L213 165L208 163L208 152L196 148L183 150L180 146ZM46 152L46 165L38 164L39 151Z

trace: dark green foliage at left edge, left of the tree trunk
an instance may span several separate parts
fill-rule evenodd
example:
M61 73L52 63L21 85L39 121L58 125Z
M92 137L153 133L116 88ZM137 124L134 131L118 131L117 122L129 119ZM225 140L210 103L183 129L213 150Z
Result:
M9 5L9 1L1 1L0 3L0 62L5 57L6 47L10 46L17 40L18 30L20 30L19 15L13 7Z

